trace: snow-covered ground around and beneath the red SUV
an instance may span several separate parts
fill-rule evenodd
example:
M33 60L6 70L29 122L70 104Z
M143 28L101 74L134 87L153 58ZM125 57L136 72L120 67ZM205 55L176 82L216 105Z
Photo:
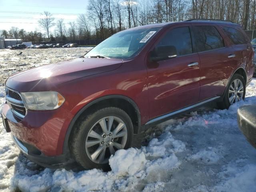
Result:
M28 62L33 63L30 65L42 65L85 52L83 48L51 50L23 50L22 55L36 57ZM43 56L47 56L47 62ZM13 51L0 51L0 63L4 65L1 71L22 64L17 57ZM144 133L146 146L119 150L110 158L110 172L73 172L37 166L20 154L0 120L0 190L255 192L256 149L246 141L236 122L239 106L256 104L255 79L246 91L245 101L229 110L201 108L150 128ZM0 87L1 106L3 92Z

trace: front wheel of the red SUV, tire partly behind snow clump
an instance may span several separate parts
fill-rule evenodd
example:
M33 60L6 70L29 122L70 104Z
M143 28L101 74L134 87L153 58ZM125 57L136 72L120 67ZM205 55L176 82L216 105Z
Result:
M132 120L115 107L100 109L78 120L72 133L70 150L85 169L109 170L108 159L116 150L132 145Z

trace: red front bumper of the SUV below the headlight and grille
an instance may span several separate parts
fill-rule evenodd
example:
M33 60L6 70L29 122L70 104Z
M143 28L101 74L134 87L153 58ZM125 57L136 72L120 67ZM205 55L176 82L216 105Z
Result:
M34 146L44 156L63 154L66 130L72 120L70 112L63 106L49 111L28 110L22 119L12 112L8 104L4 104L2 113L9 131L18 140Z

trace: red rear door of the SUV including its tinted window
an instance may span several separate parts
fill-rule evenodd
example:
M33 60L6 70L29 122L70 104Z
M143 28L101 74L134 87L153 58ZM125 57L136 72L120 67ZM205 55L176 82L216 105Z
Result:
M224 41L221 29L213 24L192 24L200 57L200 98L223 94L234 62L234 49Z

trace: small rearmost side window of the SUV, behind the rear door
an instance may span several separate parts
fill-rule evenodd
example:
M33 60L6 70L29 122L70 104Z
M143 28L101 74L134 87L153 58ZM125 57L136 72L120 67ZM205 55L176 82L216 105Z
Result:
M239 30L231 27L222 27L222 29L234 45L247 44L246 38Z

